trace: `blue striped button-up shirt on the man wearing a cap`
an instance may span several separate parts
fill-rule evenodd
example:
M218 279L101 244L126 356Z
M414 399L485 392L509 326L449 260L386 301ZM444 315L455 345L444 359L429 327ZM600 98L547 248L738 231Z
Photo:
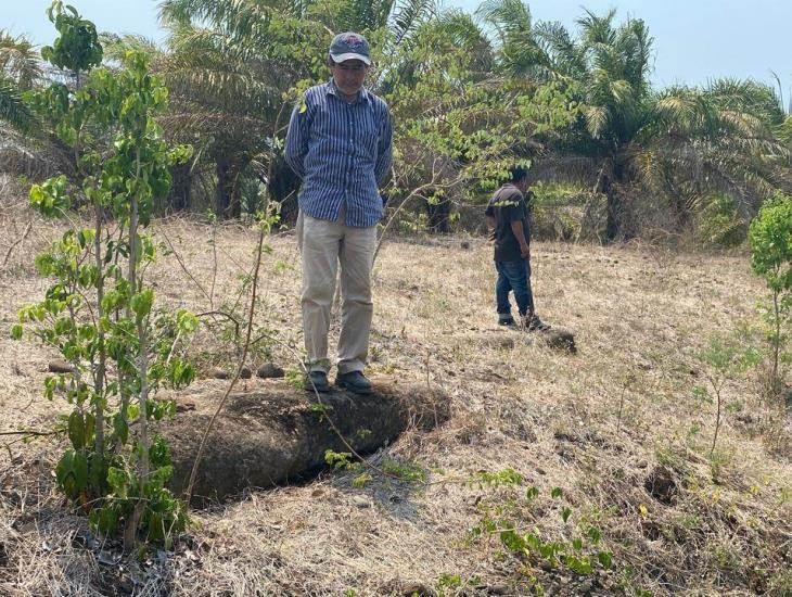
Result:
M344 205L347 226L374 226L382 217L379 185L391 169L393 128L387 104L361 89L348 103L335 82L306 91L294 107L285 158L303 179L299 208L335 221Z

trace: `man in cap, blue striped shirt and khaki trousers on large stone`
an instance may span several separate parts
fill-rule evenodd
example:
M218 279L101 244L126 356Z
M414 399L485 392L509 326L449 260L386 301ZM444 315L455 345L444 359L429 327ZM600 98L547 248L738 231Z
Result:
M336 385L371 392L363 376L373 303L371 267L379 187L391 170L391 114L363 87L371 66L359 34L336 35L330 45L330 81L311 87L292 112L285 158L302 178L297 244L303 256L303 331L309 390L330 391L330 305L341 264L341 334Z

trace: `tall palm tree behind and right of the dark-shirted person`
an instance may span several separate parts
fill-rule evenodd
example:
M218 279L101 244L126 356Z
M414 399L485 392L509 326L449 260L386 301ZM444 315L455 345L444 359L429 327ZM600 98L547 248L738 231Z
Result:
M641 183L662 180L680 223L706 189L726 188L748 205L772 186L774 160L783 149L771 89L716 81L706 90L656 93L649 81L652 38L641 20L616 25L614 10L603 16L585 11L573 37L557 23L534 25L521 4L490 0L480 14L496 30L506 73L575 89L583 119L557 149L589 161L595 190L606 196L606 240L631 234L626 198Z

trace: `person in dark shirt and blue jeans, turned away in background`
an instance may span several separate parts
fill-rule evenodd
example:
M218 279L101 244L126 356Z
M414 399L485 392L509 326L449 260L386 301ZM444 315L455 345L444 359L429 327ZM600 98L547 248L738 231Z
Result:
M529 331L546 330L549 326L536 315L531 290L531 220L526 194L529 201L528 172L518 166L512 169L511 180L495 192L485 212L495 241L498 323L515 325L509 303L511 291L518 304L520 325Z

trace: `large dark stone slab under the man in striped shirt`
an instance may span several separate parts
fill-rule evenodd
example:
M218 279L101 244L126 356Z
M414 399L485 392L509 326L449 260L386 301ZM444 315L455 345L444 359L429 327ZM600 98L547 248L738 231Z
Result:
M229 396L209 434L193 488L193 503L221 500L247 487L272 487L305 479L324 466L324 453L371 453L408 427L429 430L446 421L448 401L425 384L374 378L368 396L342 390L316 396L284 380L261 380ZM208 395L207 395L208 394ZM222 395L219 390L177 398L180 414L162 433L170 444L171 487L181 493L201 436Z

